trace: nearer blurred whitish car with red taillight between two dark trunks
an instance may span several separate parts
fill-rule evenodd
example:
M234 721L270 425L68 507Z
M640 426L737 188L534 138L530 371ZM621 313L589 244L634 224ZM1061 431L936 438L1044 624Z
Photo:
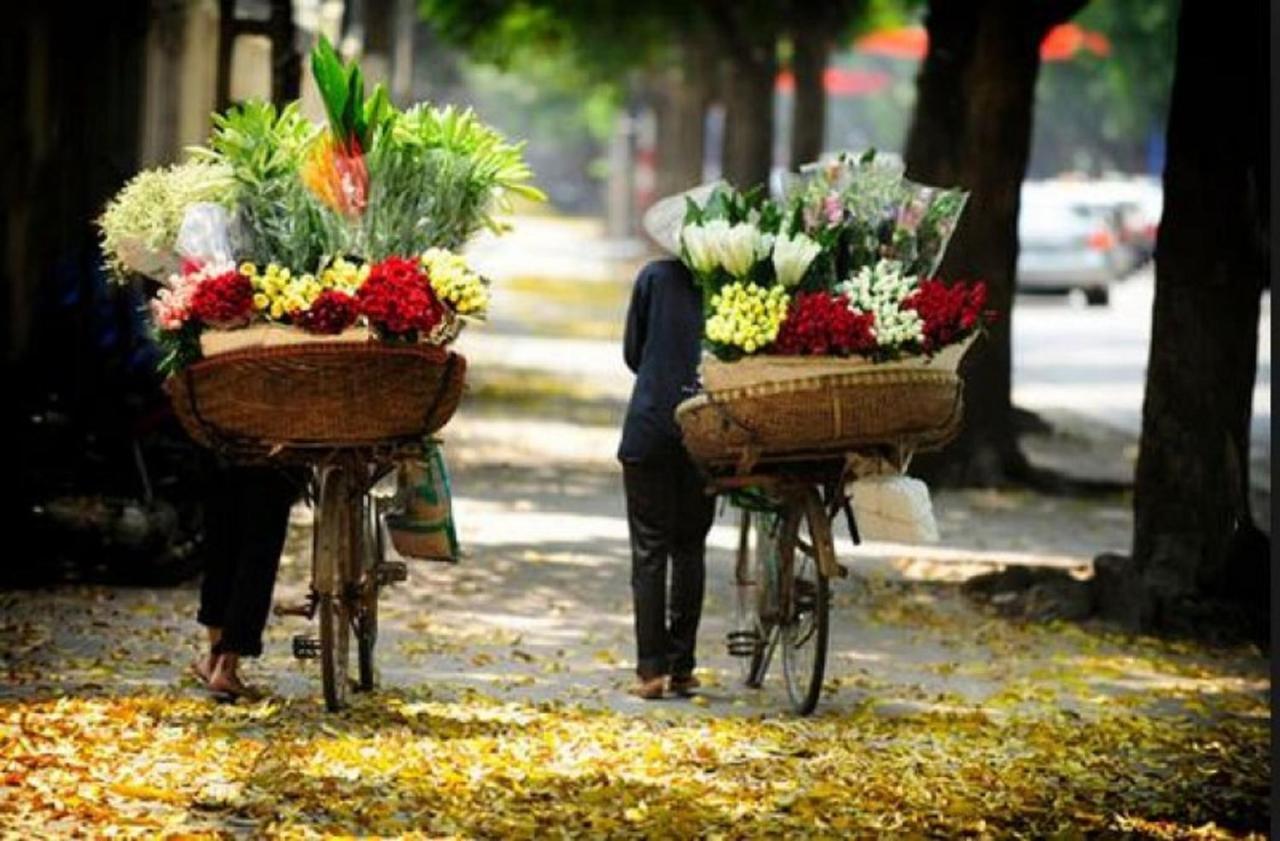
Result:
M1134 268L1124 244L1123 211L1078 186L1028 182L1018 216L1018 288L1021 292L1084 292L1092 306L1111 300L1111 284Z

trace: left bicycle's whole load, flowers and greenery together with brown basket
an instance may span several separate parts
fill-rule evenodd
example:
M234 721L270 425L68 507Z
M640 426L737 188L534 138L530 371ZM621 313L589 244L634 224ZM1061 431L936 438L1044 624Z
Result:
M143 172L100 227L113 274L151 278L161 369L205 443L421 437L461 396L448 349L489 283L457 251L512 197L541 200L518 143L471 111L398 110L321 38L328 122L297 102L214 115L191 160Z

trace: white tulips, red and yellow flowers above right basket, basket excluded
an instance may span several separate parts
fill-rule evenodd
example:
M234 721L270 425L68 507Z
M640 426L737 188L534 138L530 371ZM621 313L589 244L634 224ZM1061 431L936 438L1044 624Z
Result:
M968 339L993 317L984 284L936 276L966 198L867 152L805 168L782 201L727 187L689 201L680 257L703 294L704 346L723 361L891 361Z

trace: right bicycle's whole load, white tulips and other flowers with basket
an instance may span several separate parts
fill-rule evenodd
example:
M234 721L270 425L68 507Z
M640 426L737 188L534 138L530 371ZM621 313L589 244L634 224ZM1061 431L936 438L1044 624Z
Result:
M687 201L707 349L677 408L690 453L746 469L954 435L957 366L992 319L984 284L931 276L965 198L868 154L808 168L783 201Z

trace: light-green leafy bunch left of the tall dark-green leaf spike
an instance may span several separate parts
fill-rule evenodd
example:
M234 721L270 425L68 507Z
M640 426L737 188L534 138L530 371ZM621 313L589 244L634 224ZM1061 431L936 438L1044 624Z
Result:
M298 166L320 129L296 102L279 113L251 100L214 115L207 150L197 155L228 166L247 234L243 257L314 269L352 246L346 223L303 186Z

